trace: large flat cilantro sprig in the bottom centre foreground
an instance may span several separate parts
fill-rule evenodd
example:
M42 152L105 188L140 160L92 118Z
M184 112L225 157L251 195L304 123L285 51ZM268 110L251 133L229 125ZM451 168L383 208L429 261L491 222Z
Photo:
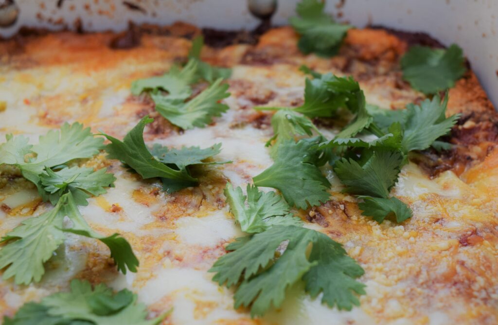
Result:
M246 196L227 183L225 195L241 229L253 234L228 245L229 253L209 270L216 273L213 281L236 288L235 308L250 307L251 317L262 316L280 307L288 287L301 280L311 297L323 293L322 303L330 307L351 310L360 304L357 295L365 294L365 286L355 279L364 271L341 244L300 227L274 192L248 184Z

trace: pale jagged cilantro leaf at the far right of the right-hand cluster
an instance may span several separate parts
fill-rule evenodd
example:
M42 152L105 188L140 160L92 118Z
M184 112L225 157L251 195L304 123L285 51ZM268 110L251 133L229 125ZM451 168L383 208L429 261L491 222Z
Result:
M436 139L448 134L457 123L459 114L445 118L448 95L441 103L436 95L424 100L420 106L409 104L404 111L405 126L402 145L405 152L429 148Z

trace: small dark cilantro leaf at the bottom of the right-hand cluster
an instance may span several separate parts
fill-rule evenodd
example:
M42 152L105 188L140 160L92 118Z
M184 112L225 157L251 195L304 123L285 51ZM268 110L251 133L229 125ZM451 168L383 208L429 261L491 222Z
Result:
M363 198L363 202L359 203L358 206L362 210L362 214L372 217L373 220L381 223L384 221L385 217L389 214L394 214L396 217L396 222L403 222L408 218L411 218L411 209L397 197L380 198L371 196L360 196Z

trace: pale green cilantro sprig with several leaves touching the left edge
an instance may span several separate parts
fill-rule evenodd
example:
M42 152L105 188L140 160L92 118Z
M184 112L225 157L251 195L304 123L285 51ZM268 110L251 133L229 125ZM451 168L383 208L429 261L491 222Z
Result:
M1 242L0 269L3 278L14 277L16 284L39 282L45 273L44 263L66 239L65 232L73 232L101 240L111 250L118 270L136 272L138 260L129 243L118 234L109 237L94 232L81 216L77 205L87 205L87 199L106 192L116 178L106 168L68 167L76 159L91 158L103 149L102 138L95 138L90 128L65 123L60 130L49 131L36 145L29 145L23 136L8 135L0 146L0 164L18 167L22 175L33 182L40 196L54 208L37 217L21 222L8 232ZM67 216L72 227L64 228Z

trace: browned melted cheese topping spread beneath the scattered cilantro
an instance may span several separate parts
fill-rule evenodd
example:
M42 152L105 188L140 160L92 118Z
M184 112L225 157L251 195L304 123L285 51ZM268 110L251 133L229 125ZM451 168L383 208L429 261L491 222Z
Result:
M361 37L362 30L348 36L354 54L330 60L299 54L288 28L270 30L255 46L209 49L213 57L230 58L219 62L233 67L228 81L232 96L225 100L230 110L207 128L183 133L156 116L160 123L154 130L146 129L145 138L148 144L176 148L221 143L222 152L215 160L233 163L204 166L199 186L166 194L157 180L142 180L119 162L96 159L95 165L109 166L116 175L116 186L89 199L80 211L96 231L119 232L130 242L140 260L138 272L117 273L108 263L105 246L68 235L40 283L19 287L0 280L0 316L12 315L24 302L66 290L72 278L83 278L136 292L151 316L173 308L166 324L496 324L498 201L487 188L496 189L498 155L462 178L447 171L431 179L413 163L404 166L391 193L407 202L414 215L401 225L389 221L379 225L362 216L357 200L340 193L343 187L337 176L324 167L333 185L332 201L317 207L323 222L306 227L341 242L365 269L360 281L367 285L367 295L352 311L322 305L320 296L311 299L298 283L289 289L281 308L251 320L247 310L233 309L232 290L211 281L207 270L225 253L227 243L243 235L224 202L226 181L245 187L272 164L264 147L272 136L267 113L255 112L252 106L299 105L304 87L300 64L341 75L347 60L354 73L373 74L361 81L369 103L401 107L419 98L420 94L398 89L394 83L397 68L389 58L403 45L380 31L363 33L368 41ZM144 96L130 95L130 83L167 70L175 57L186 55L190 42L143 35L136 48L111 50L107 44L112 36L60 33L31 39L23 53L14 55L20 66L1 67L0 97L7 109L0 112L0 133L25 134L36 143L46 130L80 121L94 131L122 138L141 116L153 113ZM369 51L354 47L361 42L370 46L375 39L379 42ZM246 50L263 51L259 54L263 59L264 51L284 51L285 59L234 63ZM381 64L367 64L372 55L381 57ZM394 72L386 75L386 71ZM337 132L321 130L329 137ZM33 188L7 187L0 188L0 203L10 208L38 199ZM33 215L50 208L33 206ZM304 216L306 211L300 213ZM13 214L0 210L1 234L26 217L22 209Z

